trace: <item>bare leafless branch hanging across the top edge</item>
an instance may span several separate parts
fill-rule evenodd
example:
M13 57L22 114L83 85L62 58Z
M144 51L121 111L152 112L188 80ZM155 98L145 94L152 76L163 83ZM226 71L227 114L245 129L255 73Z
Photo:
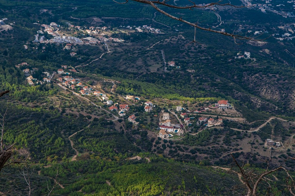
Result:
M122 2L119 2L119 1L116 1L116 0L113 0L114 2L116 2L117 4L126 4L129 2L129 0L122 0ZM186 23L188 25L191 25L195 28L198 28L200 30L204 30L204 31L209 31L209 32L214 32L214 33L219 33L219 34L222 34L222 35L226 35L226 36L230 36L234 39L235 43L237 43L236 41L237 40L254 40L254 41L262 41L262 40L265 40L267 38L264 38L264 39L259 39L259 37L261 35L258 35L256 37L252 37L252 36L243 36L241 34L235 34L234 32L233 33L227 33L227 32L223 32L223 31L217 31L217 30L213 30L211 28L205 28L205 27L201 27L198 23L194 23L194 22L189 22L187 20L184 20L182 19L182 17L176 17L172 14L169 14L168 12L165 12L163 9L159 8L159 6L166 6L166 7L169 7L169 8L173 8L173 9L188 9L188 10L192 10L193 8L210 8L212 6L230 6L230 7L235 7L235 8L242 8L242 7L249 7L249 6L235 6L231 3L225 3L225 4L222 4L222 0L219 0L217 2L212 2L212 3L209 3L209 4L206 4L206 5L199 5L199 4L196 4L195 2L191 1L191 0L188 0L188 3L190 5L187 5L187 6L177 6L177 5L173 5L173 4L168 4L168 1L170 0L163 0L163 1L160 1L160 0L156 0L156 1L151 1L151 0L130 0L130 1L136 1L136 2L139 2L139 3L143 3L143 4L149 4L150 6L152 6L155 10L157 10L158 12L160 12L161 14L164 14L165 16L168 16L174 20L177 20L177 21L180 21L180 22L183 22L183 23ZM194 39L194 41L192 41L191 43L195 43L196 40Z

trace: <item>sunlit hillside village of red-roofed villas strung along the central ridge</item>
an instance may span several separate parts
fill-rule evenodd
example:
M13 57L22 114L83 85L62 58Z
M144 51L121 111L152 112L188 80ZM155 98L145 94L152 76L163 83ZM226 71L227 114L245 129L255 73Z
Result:
M29 67L26 62L16 65L17 68ZM143 107L143 111L146 113L151 113L157 107L150 101L142 101L141 97L126 95L124 96L124 101L122 103L114 103L110 100L111 94L105 93L101 90L95 89L95 87L84 83L80 78L71 76L73 73L78 73L78 71L73 67L68 67L67 65L62 65L57 71L49 73L47 71L43 72L44 78L42 81L32 77L34 73L34 68L30 70L29 68L23 69L24 74L27 76L27 83L30 85L37 85L43 83L56 83L58 86L68 89L73 92L73 94L82 97L97 97L100 102L107 105L109 112L119 118L124 118L126 114L130 114L130 105L135 105L136 107ZM53 76L55 80L53 80ZM113 96L113 95L112 95ZM118 95L120 97L120 95ZM143 105L143 106L142 106ZM190 130L190 127L194 124L199 125L199 131L210 128L214 126L222 125L223 119L218 117L199 117L196 119L196 115L202 115L202 113L207 113L209 111L227 111L234 110L234 107L227 100L219 100L215 104L211 104L205 107L200 107L195 110L188 110L182 106L176 106L175 109L168 112L160 112L158 115L158 136L161 138L172 138L173 136L183 136L186 131ZM175 112L175 115L179 120L177 120L171 112ZM208 116L208 115L207 115ZM209 115L210 116L210 115ZM171 118L174 118L171 122ZM136 114L130 114L127 118L129 122L133 125L138 125L138 116ZM156 130L155 130L156 131Z

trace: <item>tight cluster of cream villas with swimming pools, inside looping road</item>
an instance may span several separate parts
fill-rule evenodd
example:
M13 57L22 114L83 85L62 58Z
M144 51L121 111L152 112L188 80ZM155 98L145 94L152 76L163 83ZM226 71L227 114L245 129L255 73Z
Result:
M182 125L172 124L169 113L164 112L162 114L162 121L159 122L159 129L159 136L161 138L169 138L173 136L171 133L179 133Z

